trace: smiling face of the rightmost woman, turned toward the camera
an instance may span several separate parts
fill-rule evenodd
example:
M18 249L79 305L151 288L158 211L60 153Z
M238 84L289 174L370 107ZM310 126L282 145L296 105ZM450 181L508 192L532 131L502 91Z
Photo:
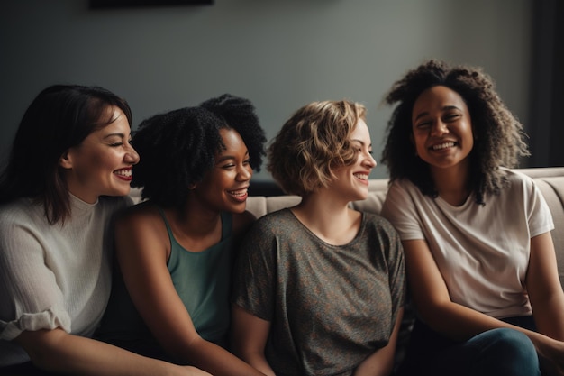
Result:
M431 87L417 98L412 112L415 150L432 170L468 167L474 147L468 106L448 87Z

